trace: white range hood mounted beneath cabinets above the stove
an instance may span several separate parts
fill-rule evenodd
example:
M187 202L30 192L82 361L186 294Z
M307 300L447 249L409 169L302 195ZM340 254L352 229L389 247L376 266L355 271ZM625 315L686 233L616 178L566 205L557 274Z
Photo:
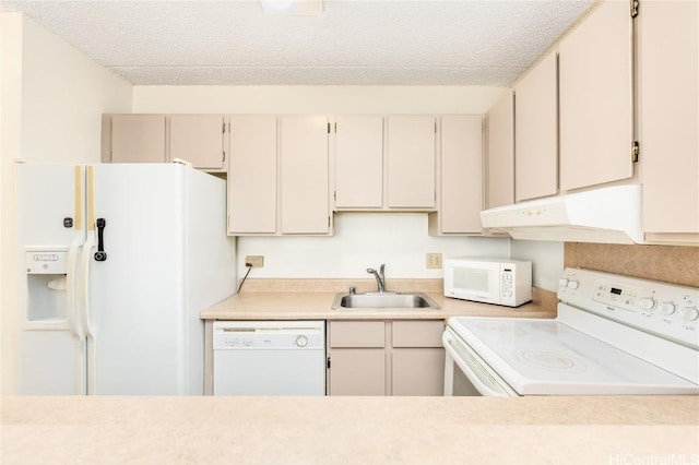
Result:
M642 243L641 186L625 184L481 212L484 228L513 239Z

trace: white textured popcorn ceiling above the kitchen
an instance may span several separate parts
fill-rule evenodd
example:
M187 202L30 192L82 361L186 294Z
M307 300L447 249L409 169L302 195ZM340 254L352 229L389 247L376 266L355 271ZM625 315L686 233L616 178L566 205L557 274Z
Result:
M592 0L0 1L137 85L507 85Z

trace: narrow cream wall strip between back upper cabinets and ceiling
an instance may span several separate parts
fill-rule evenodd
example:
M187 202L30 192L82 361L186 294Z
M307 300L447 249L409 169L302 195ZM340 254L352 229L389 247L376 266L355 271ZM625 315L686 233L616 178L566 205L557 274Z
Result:
M486 86L134 86L133 112L485 114L505 93Z

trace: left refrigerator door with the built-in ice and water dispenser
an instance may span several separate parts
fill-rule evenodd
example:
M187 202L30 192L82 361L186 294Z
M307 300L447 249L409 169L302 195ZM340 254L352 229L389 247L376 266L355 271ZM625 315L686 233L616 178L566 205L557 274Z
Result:
M85 338L75 296L85 238L83 169L16 165L17 393L85 392Z

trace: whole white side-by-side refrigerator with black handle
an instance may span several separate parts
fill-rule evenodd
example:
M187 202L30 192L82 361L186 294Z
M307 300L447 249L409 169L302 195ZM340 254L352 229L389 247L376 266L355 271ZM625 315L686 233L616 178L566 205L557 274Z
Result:
M20 394L203 394L199 313L235 293L225 181L16 165Z

